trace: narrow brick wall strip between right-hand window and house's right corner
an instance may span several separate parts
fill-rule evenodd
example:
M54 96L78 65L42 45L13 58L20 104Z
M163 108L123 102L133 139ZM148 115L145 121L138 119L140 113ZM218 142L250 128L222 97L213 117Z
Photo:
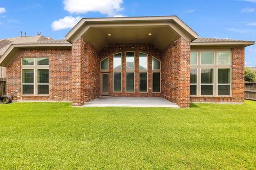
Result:
M244 47L232 48L232 101L244 102Z

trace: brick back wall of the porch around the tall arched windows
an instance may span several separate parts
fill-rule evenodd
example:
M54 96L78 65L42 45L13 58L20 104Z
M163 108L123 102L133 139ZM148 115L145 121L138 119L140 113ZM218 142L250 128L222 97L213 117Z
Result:
M125 65L125 52L133 51L135 61L135 89L134 92L126 92L126 65ZM116 53L122 53L122 92L113 92L113 55ZM148 54L148 92L139 92L139 53ZM108 44L102 49L100 53L101 60L105 57L109 57L109 77L110 77L110 96L132 96L132 97L143 97L143 96L161 96L161 92L152 92L152 56L156 57L161 61L161 52L150 43L113 43Z

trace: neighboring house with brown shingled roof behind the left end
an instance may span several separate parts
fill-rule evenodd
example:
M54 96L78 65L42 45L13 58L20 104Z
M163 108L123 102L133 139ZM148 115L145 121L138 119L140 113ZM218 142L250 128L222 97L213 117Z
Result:
M49 39L51 39L51 37L44 37L41 35L0 39L0 57L6 52L7 49L9 49L12 44L31 43ZM0 66L0 78L6 78L6 67Z

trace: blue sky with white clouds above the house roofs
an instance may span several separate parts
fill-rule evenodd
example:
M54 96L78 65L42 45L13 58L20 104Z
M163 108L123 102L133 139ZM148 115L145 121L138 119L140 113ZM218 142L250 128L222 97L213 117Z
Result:
M155 15L178 15L200 37L256 40L256 0L1 0L0 39L20 31L62 39L83 17ZM245 64L256 65L256 45Z

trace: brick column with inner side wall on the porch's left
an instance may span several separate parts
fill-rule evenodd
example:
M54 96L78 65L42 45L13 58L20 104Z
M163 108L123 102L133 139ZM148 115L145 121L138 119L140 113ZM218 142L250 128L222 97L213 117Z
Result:
M99 96L99 57L97 50L79 38L72 44L72 103L75 106Z

